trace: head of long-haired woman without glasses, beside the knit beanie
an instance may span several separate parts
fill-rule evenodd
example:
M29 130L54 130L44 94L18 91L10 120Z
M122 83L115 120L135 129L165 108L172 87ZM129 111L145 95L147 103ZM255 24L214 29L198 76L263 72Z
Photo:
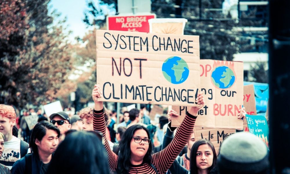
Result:
M215 147L207 139L197 140L191 147L190 171L191 173L210 173L217 162Z

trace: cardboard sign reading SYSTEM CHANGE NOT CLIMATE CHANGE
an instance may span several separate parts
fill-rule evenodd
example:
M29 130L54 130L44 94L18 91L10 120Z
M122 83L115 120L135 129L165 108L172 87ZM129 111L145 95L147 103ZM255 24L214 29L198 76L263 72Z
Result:
M97 30L99 101L194 106L199 36Z

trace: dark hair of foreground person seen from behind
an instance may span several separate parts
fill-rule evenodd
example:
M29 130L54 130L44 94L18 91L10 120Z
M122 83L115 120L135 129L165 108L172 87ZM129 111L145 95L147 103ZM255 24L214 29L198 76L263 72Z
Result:
M48 166L54 174L109 174L108 156L93 132L75 131L58 146Z

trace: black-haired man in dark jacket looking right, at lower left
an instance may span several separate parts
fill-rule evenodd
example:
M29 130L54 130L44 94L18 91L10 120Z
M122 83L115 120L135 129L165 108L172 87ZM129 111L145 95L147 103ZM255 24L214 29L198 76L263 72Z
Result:
M48 121L37 123L29 142L32 153L14 163L12 174L45 174L59 143L59 129Z

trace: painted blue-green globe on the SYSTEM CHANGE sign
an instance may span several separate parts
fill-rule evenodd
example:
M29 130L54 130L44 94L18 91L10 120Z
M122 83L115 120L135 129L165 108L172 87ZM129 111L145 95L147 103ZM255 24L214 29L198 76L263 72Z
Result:
M187 63L180 57L172 56L162 65L162 73L166 80L173 84L181 84L189 75Z

